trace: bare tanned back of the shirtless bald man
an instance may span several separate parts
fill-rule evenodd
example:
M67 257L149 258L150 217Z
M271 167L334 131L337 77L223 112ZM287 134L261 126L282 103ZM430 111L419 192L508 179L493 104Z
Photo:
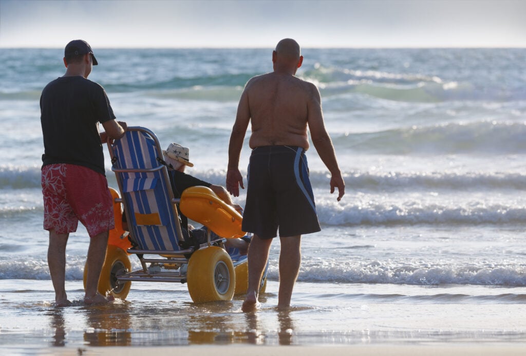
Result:
M314 89L314 90L313 90ZM291 145L309 148L308 102L316 88L290 74L252 78L245 88L252 123L250 148Z

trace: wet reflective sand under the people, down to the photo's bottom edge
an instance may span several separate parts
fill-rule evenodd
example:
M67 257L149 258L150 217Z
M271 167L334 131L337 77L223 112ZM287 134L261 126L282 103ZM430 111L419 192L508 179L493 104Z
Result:
M82 303L82 282L67 282L71 307L54 308L50 281L18 280L0 288L0 355L515 355L526 354L523 288L513 301L504 290L450 287L448 295L482 294L430 303L414 286L297 285L295 306L278 311L277 295L257 312L241 311L243 298L196 305L184 286L137 284L127 301ZM152 289L159 287L159 289ZM268 288L278 287L270 281ZM323 290L326 294L323 294ZM369 295L404 296L371 300ZM415 295L415 298L408 296ZM349 297L350 296L350 297ZM519 298L519 301L515 300ZM1 298L0 298L1 299ZM400 299L400 298L399 298ZM423 301L421 300L423 299ZM489 301L488 301L489 300ZM316 306L312 306L316 302ZM310 305L310 306L309 306Z

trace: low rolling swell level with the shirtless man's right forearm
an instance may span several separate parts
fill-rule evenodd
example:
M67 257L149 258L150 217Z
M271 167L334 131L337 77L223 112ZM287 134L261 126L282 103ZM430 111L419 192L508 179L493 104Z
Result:
M479 121L333 134L343 150L381 154L522 154L526 123Z

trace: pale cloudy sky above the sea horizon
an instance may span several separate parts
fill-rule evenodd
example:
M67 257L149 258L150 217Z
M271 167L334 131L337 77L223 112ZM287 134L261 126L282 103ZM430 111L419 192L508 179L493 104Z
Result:
M525 0L0 0L0 48L526 47Z

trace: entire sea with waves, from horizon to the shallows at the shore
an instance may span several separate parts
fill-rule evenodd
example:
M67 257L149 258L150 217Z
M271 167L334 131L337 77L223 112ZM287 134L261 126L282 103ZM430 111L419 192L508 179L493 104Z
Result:
M99 66L89 78L105 87L118 119L153 130L163 146L189 146L195 167L188 172L224 185L237 100L250 77L271 70L270 49L95 52ZM322 231L303 238L286 316L274 310L274 243L266 303L254 320L239 311L241 299L194 305L186 285L134 282L128 301L113 309L80 305L83 227L67 251L68 294L77 303L49 306L38 99L63 75L62 51L2 49L0 343L28 337L27 345L52 344L57 330L69 345L102 344L103 336L109 344L144 345L200 338L274 344L287 335L291 343L335 344L523 340L526 50L303 55L298 75L320 89L346 195L338 203L329 194L328 172L309 150ZM245 173L248 155L245 144ZM244 201L241 192L237 203ZM169 326L159 331L150 319Z

